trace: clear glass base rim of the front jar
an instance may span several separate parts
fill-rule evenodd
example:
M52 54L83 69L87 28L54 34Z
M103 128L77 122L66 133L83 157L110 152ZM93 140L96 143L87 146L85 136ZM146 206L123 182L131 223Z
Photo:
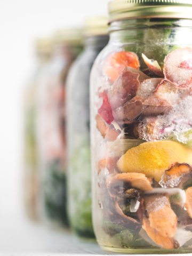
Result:
M128 253L128 254L178 254L178 253L192 253L192 249L131 249L131 248L115 248L109 246L101 246L101 249L108 252L117 252L117 253Z

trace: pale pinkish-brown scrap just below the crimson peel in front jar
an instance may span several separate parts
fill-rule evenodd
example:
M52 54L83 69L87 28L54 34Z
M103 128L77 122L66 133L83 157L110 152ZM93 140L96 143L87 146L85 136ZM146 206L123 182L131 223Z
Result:
M100 115L97 115L95 117L97 122L97 129L100 131L103 139L106 139L108 141L114 141L117 139L120 131L113 129L113 126L110 128L105 121L103 121L102 117Z

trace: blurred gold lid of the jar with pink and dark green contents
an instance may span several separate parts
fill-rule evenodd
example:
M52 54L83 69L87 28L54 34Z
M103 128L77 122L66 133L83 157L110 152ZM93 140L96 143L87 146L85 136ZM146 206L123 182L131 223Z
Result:
M63 28L55 32L53 41L57 43L66 43L70 45L81 45L82 44L82 28Z

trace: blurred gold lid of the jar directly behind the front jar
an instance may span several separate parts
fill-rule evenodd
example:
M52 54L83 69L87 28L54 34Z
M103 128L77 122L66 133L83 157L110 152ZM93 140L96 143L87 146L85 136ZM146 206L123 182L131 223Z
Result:
M108 34L108 17L97 16L85 20L84 35L97 36Z

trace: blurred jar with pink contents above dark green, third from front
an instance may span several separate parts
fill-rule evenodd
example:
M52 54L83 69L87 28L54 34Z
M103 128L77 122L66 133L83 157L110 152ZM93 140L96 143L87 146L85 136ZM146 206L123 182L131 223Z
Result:
M41 166L42 219L67 225L66 213L66 75L82 50L81 29L63 29L54 36L53 58L38 90L38 149Z

